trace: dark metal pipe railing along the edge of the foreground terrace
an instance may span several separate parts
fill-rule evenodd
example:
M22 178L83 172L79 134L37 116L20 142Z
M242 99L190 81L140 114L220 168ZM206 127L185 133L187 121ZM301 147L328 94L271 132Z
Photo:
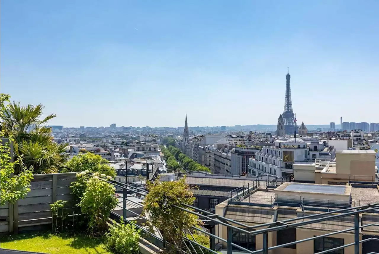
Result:
M102 179L102 180L106 181L106 179ZM134 186L131 186L130 184L120 184L119 182L114 182L114 181L109 182L109 183L113 184L115 186L118 186L118 187L122 188L123 190L125 189L125 190L127 190L127 192L132 192L132 194L130 194L130 195L133 196L133 197L139 198L139 199L143 199L143 198L136 196L135 195L136 193L138 193L139 195L142 195L142 196L146 196L147 193L149 193L147 190L143 190L143 193L146 193L146 194L143 194L143 193L137 192L137 191L133 191L133 189L138 189L138 188L136 188ZM145 186L141 185L141 187L145 187ZM249 186L249 188L247 189L247 191L246 191L247 193L245 193L244 189L242 190L242 193L241 193L242 197L244 197L246 194L248 194L250 192L249 191L249 189L251 189L250 187L251 186ZM138 190L141 191L142 189L138 189ZM127 199L127 196L124 199ZM128 200L128 201L131 201L132 203L135 203L135 204L139 204L139 203L137 203L135 201L132 201L132 200ZM296 218L291 218L291 219L287 219L287 220L283 220L283 221L274 221L274 222L271 222L271 223L265 223L265 224L255 225L255 226L247 226L244 223L241 223L241 222L229 219L229 218L225 218L225 217L222 217L220 215L217 215L217 214L214 214L214 213L211 213L211 212L208 212L208 211L205 211L205 210L202 210L202 209L199 209L197 207L193 207L193 206L190 206L190 205L187 205L187 204L182 204L181 206L174 206L174 207L177 207L178 209L181 209L181 210L184 210L186 212L189 212L189 213L192 213L194 215L197 215L199 217L199 219L202 218L205 221L214 223L216 225L225 226L228 229L228 239L223 239L223 238L221 238L221 237L219 237L217 235L208 233L208 232L203 231L202 229L199 229L199 228L195 228L195 229L197 231L203 233L203 234L206 234L206 235L214 238L214 239L218 239L220 241L226 242L227 243L227 247L228 247L228 254L232 253L232 247L241 249L242 251L245 251L245 252L251 253L251 254L259 253L259 252L263 252L264 254L266 254L271 249L276 249L276 248L281 248L281 247L287 247L287 246L290 246L290 245L294 245L294 244L298 244L298 243L302 243L302 242L306 242L306 241L310 241L310 240L315 240L315 239L319 239L319 238L323 238L323 237L328 237L330 235L340 234L340 233L349 232L349 231L353 231L354 230L354 234L356 234L355 235L354 243L349 243L349 244L346 244L346 245L343 245L343 246L338 246L338 247L336 247L334 249L329 249L327 251L322 251L322 252L318 252L317 253L317 254L323 254L323 253L327 253L327 252L330 252L330 251L346 248L346 247L353 246L353 245L355 245L356 246L355 249L357 249L357 248L359 248L359 243L367 242L367 241L370 241L370 240L378 240L376 238L369 238L369 239L365 239L365 240L359 241L359 238L357 238L357 235L359 237L359 231L360 231L360 229L368 227L368 226L379 226L379 224L374 224L374 223L366 224L366 225L363 225L363 226L359 226L359 214L360 213L365 213L365 212L372 212L374 210L378 210L379 209L378 204L379 203L376 203L376 204L365 204L365 205L357 206L357 207L348 207L348 208L345 208L345 209L338 209L338 210L333 210L333 211L329 211L329 212L317 213L317 214L313 214L313 215L307 215L307 216L304 216L304 217L296 217ZM119 207L121 207L121 206L119 206ZM131 211L130 209L127 209L126 204L123 207L123 209L125 211L131 212L132 214L137 215L139 218L144 218L144 219L146 219L146 220L149 221L148 218L143 217L141 215L138 215L138 213L135 213L135 212ZM334 213L334 215L331 215L333 213ZM337 214L335 214L335 213L337 213ZM354 227L353 228L343 229L341 231L331 232L331 233L327 233L327 234L324 234L324 235L319 235L319 236L316 236L316 237L310 237L310 238L307 238L307 239L302 239L302 240L294 241L294 242L291 242L291 243L285 243L285 244L282 244L282 245L268 247L268 233L269 232L274 232L274 231L283 230L283 229L289 229L289 228L296 228L296 227L299 227L299 226L305 226L305 225L312 224L312 223L319 223L319 222L323 222L323 221L335 220L335 219L338 219L338 218L348 217L348 216L352 216L352 215L354 215ZM298 221L298 220L302 220L302 221L300 221L300 222L294 222L294 221ZM290 223L290 222L294 222L294 223ZM237 226L240 226L241 228L238 228L237 226L233 226L231 223L233 223L233 224L235 224ZM142 227L139 227L139 228L142 228ZM258 228L260 228L260 229L258 229ZM235 230L237 232L242 232L242 233L245 233L245 234L251 235L251 236L262 234L263 235L263 248L260 249L260 250L256 250L256 251L250 251L249 249L246 249L246 248L243 248L243 247L241 247L239 245L236 245L235 243L232 242L232 230ZM145 231L146 231L146 229L144 229L144 232ZM149 234L152 234L152 233L149 232ZM156 235L154 235L154 236L157 237ZM186 246L186 248L188 249L189 252L191 252L191 250L189 249L189 247L191 247L197 253L196 249L194 248L194 245L196 245L196 246L199 246L200 248L204 248L207 251L210 251L212 253L217 253L216 251L211 250L211 249L209 249L209 248L207 248L205 246L202 246L199 243L197 243L196 241L190 240L190 239L188 239L185 236L183 236L183 239L186 240L186 241L189 241L188 242L189 245L185 244L185 246ZM182 252L182 250L180 250L180 252Z

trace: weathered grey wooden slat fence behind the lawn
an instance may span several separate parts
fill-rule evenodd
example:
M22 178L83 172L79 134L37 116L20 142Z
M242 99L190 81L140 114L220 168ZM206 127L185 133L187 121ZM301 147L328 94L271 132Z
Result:
M15 232L52 223L50 204L57 200L68 202L69 211L74 208L74 196L70 185L75 181L76 173L56 173L34 175L31 181L31 191L17 200L15 204L6 203L0 207L0 233ZM67 210L66 210L67 211Z

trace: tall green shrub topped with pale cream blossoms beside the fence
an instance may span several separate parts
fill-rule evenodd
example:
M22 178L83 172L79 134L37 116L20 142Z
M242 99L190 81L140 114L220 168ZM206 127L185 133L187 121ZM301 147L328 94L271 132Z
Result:
M88 176L85 172L77 175L77 178ZM78 206L81 213L88 218L89 230L94 234L101 234L106 230L106 221L118 203L113 185L99 179L99 173L93 173L93 177L87 181L85 192Z

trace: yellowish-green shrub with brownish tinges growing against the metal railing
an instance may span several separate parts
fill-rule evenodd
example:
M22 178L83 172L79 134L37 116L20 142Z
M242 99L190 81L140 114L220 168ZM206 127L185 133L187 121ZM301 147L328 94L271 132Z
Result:
M192 205L195 201L193 193L185 178L170 182L160 182L159 179L154 183L147 181L147 189L149 193L144 200L142 214L149 216L152 225L162 233L163 239L171 243L166 245L164 253L177 253L177 248L183 247L184 232L200 223L196 215L175 207Z

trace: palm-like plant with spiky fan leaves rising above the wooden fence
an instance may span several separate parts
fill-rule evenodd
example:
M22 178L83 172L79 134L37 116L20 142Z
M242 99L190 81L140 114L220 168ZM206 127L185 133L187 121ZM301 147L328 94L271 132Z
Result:
M34 168L33 173L55 173L67 161L67 144L54 143L52 130L46 127L47 122L56 115L50 114L41 120L43 109L42 104L28 104L25 107L15 101L1 106L1 128L5 136L13 137L15 156L21 159L15 173L30 166Z

